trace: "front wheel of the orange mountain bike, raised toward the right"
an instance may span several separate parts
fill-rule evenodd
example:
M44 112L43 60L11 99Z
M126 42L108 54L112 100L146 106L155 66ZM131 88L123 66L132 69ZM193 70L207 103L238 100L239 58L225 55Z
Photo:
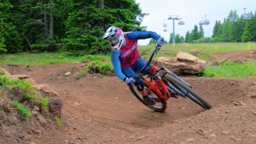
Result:
M196 104L200 105L201 107L203 107L206 110L209 110L212 108L211 104L209 104L203 97L201 97L198 93L196 93L194 90L192 90L190 87L188 87L186 84L182 83L180 80L178 80L174 76L166 74L164 77L173 86L175 86L181 92L186 94L187 97L190 98L192 101L194 101Z

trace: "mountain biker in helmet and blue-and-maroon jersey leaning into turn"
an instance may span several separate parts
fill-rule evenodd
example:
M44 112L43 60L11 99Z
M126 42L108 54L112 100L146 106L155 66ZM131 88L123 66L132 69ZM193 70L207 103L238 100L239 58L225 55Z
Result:
M137 90L142 94L143 100L150 105L154 105L156 102L147 95L143 81L141 79L136 81L133 79L136 76L135 71L140 70L147 63L140 57L137 50L137 40L149 38L154 38L158 45L163 46L161 37L156 32L151 31L136 31L124 34L121 28L110 26L102 37L102 39L108 40L112 48L111 62L116 76L127 84L134 83L137 86ZM145 68L142 73L146 73L148 70L149 67Z

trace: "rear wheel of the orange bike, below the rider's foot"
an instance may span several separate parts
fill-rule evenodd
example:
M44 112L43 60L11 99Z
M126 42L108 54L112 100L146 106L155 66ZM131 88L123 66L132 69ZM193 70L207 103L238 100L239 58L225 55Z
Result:
M155 100L156 104L149 105L147 102L145 102L143 100L142 95L137 90L137 87L134 86L134 84L128 84L128 86L129 86L130 90L132 91L132 93L135 95L135 97L137 97L140 100L140 102L145 104L150 109L152 109L152 110L154 110L156 112L164 112L164 110L166 109L166 102L164 100L160 100L157 97L157 96L159 96L159 94L155 90L150 91L148 96L151 97L153 100ZM148 90L148 84L144 82L144 86L146 87L145 89Z

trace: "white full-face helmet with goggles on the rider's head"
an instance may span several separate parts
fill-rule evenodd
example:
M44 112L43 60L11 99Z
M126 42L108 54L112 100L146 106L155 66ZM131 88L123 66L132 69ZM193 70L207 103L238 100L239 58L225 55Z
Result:
M110 26L104 33L102 39L107 39L111 48L118 51L124 41L124 33L120 27Z

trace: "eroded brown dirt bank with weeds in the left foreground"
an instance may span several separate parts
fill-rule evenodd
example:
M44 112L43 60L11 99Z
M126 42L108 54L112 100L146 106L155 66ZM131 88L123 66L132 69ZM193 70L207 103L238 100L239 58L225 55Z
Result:
M24 92L21 92L19 87L12 89L6 87L0 93L0 97L1 143L23 143L24 140L44 135L48 129L57 131L54 122L56 117L60 118L62 108L60 98L49 97L47 105L49 109L43 110L40 109L41 105L25 98ZM22 103L25 107L19 109L14 107L14 101ZM28 117L29 120L27 120Z

